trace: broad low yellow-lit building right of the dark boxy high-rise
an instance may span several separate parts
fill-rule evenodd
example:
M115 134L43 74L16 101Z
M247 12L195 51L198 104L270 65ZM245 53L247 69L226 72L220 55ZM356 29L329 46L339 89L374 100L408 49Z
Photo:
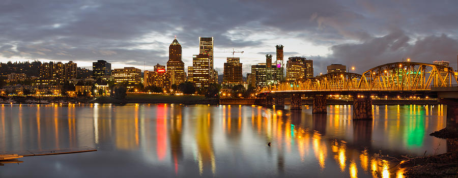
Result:
M127 88L133 88L141 81L141 70L134 67L115 69L115 84L125 84Z

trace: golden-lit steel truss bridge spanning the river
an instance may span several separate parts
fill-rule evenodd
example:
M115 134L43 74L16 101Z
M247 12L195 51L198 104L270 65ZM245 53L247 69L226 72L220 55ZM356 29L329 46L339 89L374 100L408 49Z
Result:
M282 81L264 87L260 94L353 94L353 93L423 93L447 88L456 91L458 79L451 67L396 62L374 67L362 74L332 72L315 78Z

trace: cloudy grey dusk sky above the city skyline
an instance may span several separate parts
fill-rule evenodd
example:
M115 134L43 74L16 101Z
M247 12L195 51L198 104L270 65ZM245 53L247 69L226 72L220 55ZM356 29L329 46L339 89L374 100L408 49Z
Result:
M92 68L146 70L165 65L177 36L183 61L192 65L198 37L214 37L215 68L221 74L232 49L250 65L275 57L313 60L314 73L340 63L361 73L411 58L457 65L458 1L0 1L0 61L74 61Z

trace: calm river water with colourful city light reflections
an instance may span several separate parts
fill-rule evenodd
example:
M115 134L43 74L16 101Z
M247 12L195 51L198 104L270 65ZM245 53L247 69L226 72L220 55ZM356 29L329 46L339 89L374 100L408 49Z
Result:
M374 106L328 114L220 105L0 105L0 151L91 146L25 157L0 177L402 177L384 155L441 154L445 105ZM272 142L272 146L267 146Z

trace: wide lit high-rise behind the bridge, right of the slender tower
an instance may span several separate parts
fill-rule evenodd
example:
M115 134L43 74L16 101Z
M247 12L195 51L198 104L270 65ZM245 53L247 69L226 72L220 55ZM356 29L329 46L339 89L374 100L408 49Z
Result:
M287 62L287 80L313 77L313 61L305 57L289 57Z

